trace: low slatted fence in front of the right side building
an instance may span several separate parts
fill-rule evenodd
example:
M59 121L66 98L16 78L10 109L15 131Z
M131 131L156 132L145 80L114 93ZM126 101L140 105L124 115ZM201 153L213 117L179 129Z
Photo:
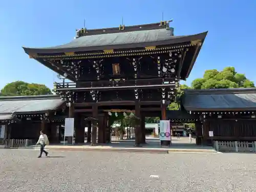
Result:
M214 141L219 152L251 152L256 153L256 141Z

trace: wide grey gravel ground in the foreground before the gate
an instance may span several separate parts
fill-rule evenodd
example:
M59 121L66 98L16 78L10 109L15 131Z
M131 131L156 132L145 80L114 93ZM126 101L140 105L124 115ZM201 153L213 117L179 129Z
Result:
M256 191L255 154L49 154L0 150L0 191Z

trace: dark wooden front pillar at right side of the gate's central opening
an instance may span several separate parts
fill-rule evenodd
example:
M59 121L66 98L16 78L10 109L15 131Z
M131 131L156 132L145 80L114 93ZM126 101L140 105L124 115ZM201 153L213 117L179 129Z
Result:
M135 102L135 145L139 146L142 143L142 133L141 133L141 114L140 114L140 103L138 101Z

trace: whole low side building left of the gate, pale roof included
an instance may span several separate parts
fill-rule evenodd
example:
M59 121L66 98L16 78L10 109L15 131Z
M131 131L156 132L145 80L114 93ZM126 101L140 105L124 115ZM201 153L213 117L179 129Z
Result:
M9 141L9 145L11 139L35 142L40 130L50 143L59 143L66 108L58 95L0 97L0 143Z

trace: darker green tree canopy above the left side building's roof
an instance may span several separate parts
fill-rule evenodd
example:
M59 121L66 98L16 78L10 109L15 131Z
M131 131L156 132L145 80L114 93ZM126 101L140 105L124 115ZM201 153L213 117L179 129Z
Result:
M14 81L6 84L1 90L0 96L23 96L23 95L51 95L51 90L44 84Z

